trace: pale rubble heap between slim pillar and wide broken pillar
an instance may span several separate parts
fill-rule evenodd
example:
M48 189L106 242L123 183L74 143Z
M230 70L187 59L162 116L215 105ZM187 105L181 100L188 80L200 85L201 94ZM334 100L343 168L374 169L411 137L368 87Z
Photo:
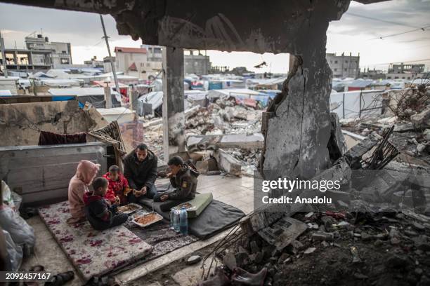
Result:
M188 156L197 169L207 175L254 175L264 142L262 112L237 104L234 97L185 110ZM144 128L145 141L162 159L162 119L154 118Z

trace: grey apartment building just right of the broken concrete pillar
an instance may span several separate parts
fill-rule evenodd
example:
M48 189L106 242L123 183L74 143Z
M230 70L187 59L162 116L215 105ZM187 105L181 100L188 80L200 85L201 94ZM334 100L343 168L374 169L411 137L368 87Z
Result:
M353 56L352 53L349 55L327 53L325 57L330 69L332 69L334 78L350 77L356 79L360 75L360 54Z

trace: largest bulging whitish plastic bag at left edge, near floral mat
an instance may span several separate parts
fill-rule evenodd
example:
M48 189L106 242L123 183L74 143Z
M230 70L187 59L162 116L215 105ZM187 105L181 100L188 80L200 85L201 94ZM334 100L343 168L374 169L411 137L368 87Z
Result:
M34 229L7 205L0 205L0 226L11 234L17 245L30 249L34 247L36 242Z

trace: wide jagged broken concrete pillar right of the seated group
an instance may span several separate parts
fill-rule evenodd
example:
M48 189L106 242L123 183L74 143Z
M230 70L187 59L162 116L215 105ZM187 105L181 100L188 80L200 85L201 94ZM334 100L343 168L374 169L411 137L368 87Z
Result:
M282 95L263 114L265 146L260 168L265 179L310 179L330 168L332 73L324 43L303 44L301 55L291 62Z

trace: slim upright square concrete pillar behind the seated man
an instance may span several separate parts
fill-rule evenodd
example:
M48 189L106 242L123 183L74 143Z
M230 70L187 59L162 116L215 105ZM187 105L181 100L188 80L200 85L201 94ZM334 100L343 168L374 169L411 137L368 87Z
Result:
M185 151L183 49L163 48L163 69L163 151L167 161Z

